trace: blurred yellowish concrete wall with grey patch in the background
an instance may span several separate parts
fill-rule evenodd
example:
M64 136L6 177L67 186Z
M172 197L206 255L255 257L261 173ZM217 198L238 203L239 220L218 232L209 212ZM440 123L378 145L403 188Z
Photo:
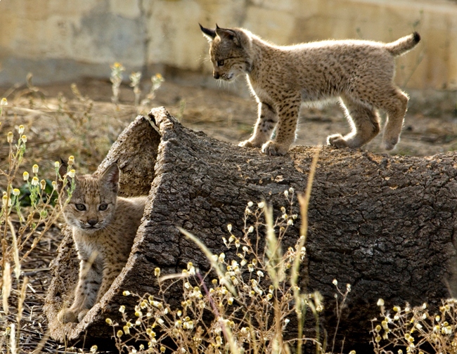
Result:
M127 72L207 74L198 22L245 27L276 44L393 41L417 30L423 41L398 59L397 83L457 90L455 0L0 0L0 85L27 72L41 84L109 77L115 61Z

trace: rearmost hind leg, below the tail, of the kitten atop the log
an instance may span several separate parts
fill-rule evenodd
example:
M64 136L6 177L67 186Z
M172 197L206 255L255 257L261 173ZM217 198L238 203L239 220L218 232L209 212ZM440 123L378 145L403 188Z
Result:
M382 145L386 150L392 150L400 140L401 128L408 106L408 96L400 89L393 88L390 95L381 100L378 107L387 112Z

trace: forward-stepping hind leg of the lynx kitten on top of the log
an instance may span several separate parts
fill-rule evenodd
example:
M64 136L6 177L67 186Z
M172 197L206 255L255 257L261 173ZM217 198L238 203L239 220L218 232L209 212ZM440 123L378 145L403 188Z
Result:
M327 143L335 147L361 147L378 135L380 119L374 107L367 107L352 98L342 97L341 105L352 127L346 136L334 134L327 137Z

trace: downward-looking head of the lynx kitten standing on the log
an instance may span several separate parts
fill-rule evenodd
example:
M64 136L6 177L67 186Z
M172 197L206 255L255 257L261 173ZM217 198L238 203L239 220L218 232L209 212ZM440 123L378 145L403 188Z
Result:
M201 27L201 25L200 25ZM215 30L202 28L210 41L210 58L213 65L214 79L231 81L239 74L252 70L247 37L231 29L217 27Z

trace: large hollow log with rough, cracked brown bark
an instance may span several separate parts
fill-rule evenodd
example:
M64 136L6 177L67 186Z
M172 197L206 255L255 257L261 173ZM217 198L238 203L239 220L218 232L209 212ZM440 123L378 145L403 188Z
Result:
M154 128L155 126L155 128ZM122 133L98 171L117 161L122 195L149 193L143 223L129 261L100 303L79 324L61 325L56 315L71 301L78 272L69 230L52 265L46 314L54 339L110 339L105 318L118 318L121 304L136 303L122 291L157 292L154 268L179 273L192 261L209 267L200 249L176 226L193 232L213 253L226 251L226 225L243 230L247 202L262 199L276 213L284 190L306 188L316 147L293 147L285 157L236 147L184 128L164 108L137 117ZM413 305L456 294L457 159L391 157L363 150L323 147L309 206L307 261L302 286L323 294L328 331L334 328L335 288L352 284L339 334L345 348L368 343L376 302ZM298 212L298 203L295 208ZM284 239L295 244L300 218ZM179 299L179 294L169 294ZM333 328L332 328L333 327ZM99 346L100 348L100 346Z

